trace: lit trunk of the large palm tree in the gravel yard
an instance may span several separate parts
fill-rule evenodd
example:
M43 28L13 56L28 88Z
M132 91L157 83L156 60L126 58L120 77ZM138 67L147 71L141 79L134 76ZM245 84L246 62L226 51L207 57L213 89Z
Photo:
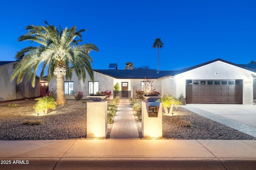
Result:
M56 91L57 91L57 105L66 104L66 98L64 94L64 76L62 74L56 75Z

